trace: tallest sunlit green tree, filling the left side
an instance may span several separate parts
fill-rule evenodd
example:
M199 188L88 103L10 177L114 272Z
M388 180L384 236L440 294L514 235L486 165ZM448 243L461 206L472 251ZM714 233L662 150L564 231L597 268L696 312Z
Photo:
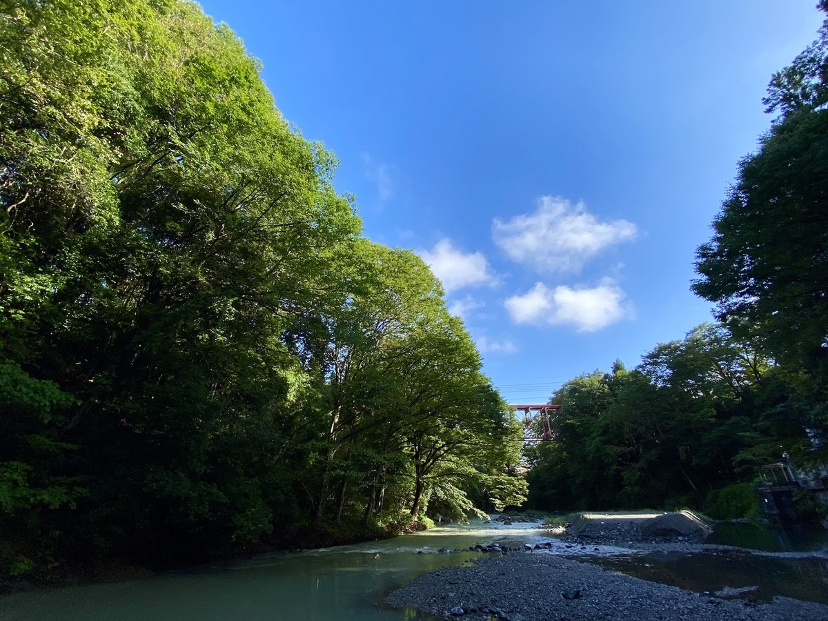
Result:
M266 535L306 433L281 335L341 305L360 229L334 158L190 2L3 2L0 54L4 369L74 397L4 472L81 477L42 517L103 546Z

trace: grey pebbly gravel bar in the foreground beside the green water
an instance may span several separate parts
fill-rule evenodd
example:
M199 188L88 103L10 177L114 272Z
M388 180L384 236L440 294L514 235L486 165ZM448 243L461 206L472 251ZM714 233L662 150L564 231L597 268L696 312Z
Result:
M756 601L749 590L697 594L542 551L431 571L385 601L444 618L502 621L828 621L826 604L784 597Z

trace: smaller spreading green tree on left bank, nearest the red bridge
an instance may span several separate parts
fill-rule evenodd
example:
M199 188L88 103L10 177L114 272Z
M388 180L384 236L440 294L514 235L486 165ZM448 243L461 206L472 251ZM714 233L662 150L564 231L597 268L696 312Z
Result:
M520 432L479 373L440 282L411 251L367 240L357 250L354 293L324 336L331 407L317 522L343 517L349 489L365 522L383 508L397 520L403 506L417 519L434 494L441 514L458 517L472 507L466 492L480 486L495 505L522 502L522 479L508 472Z

